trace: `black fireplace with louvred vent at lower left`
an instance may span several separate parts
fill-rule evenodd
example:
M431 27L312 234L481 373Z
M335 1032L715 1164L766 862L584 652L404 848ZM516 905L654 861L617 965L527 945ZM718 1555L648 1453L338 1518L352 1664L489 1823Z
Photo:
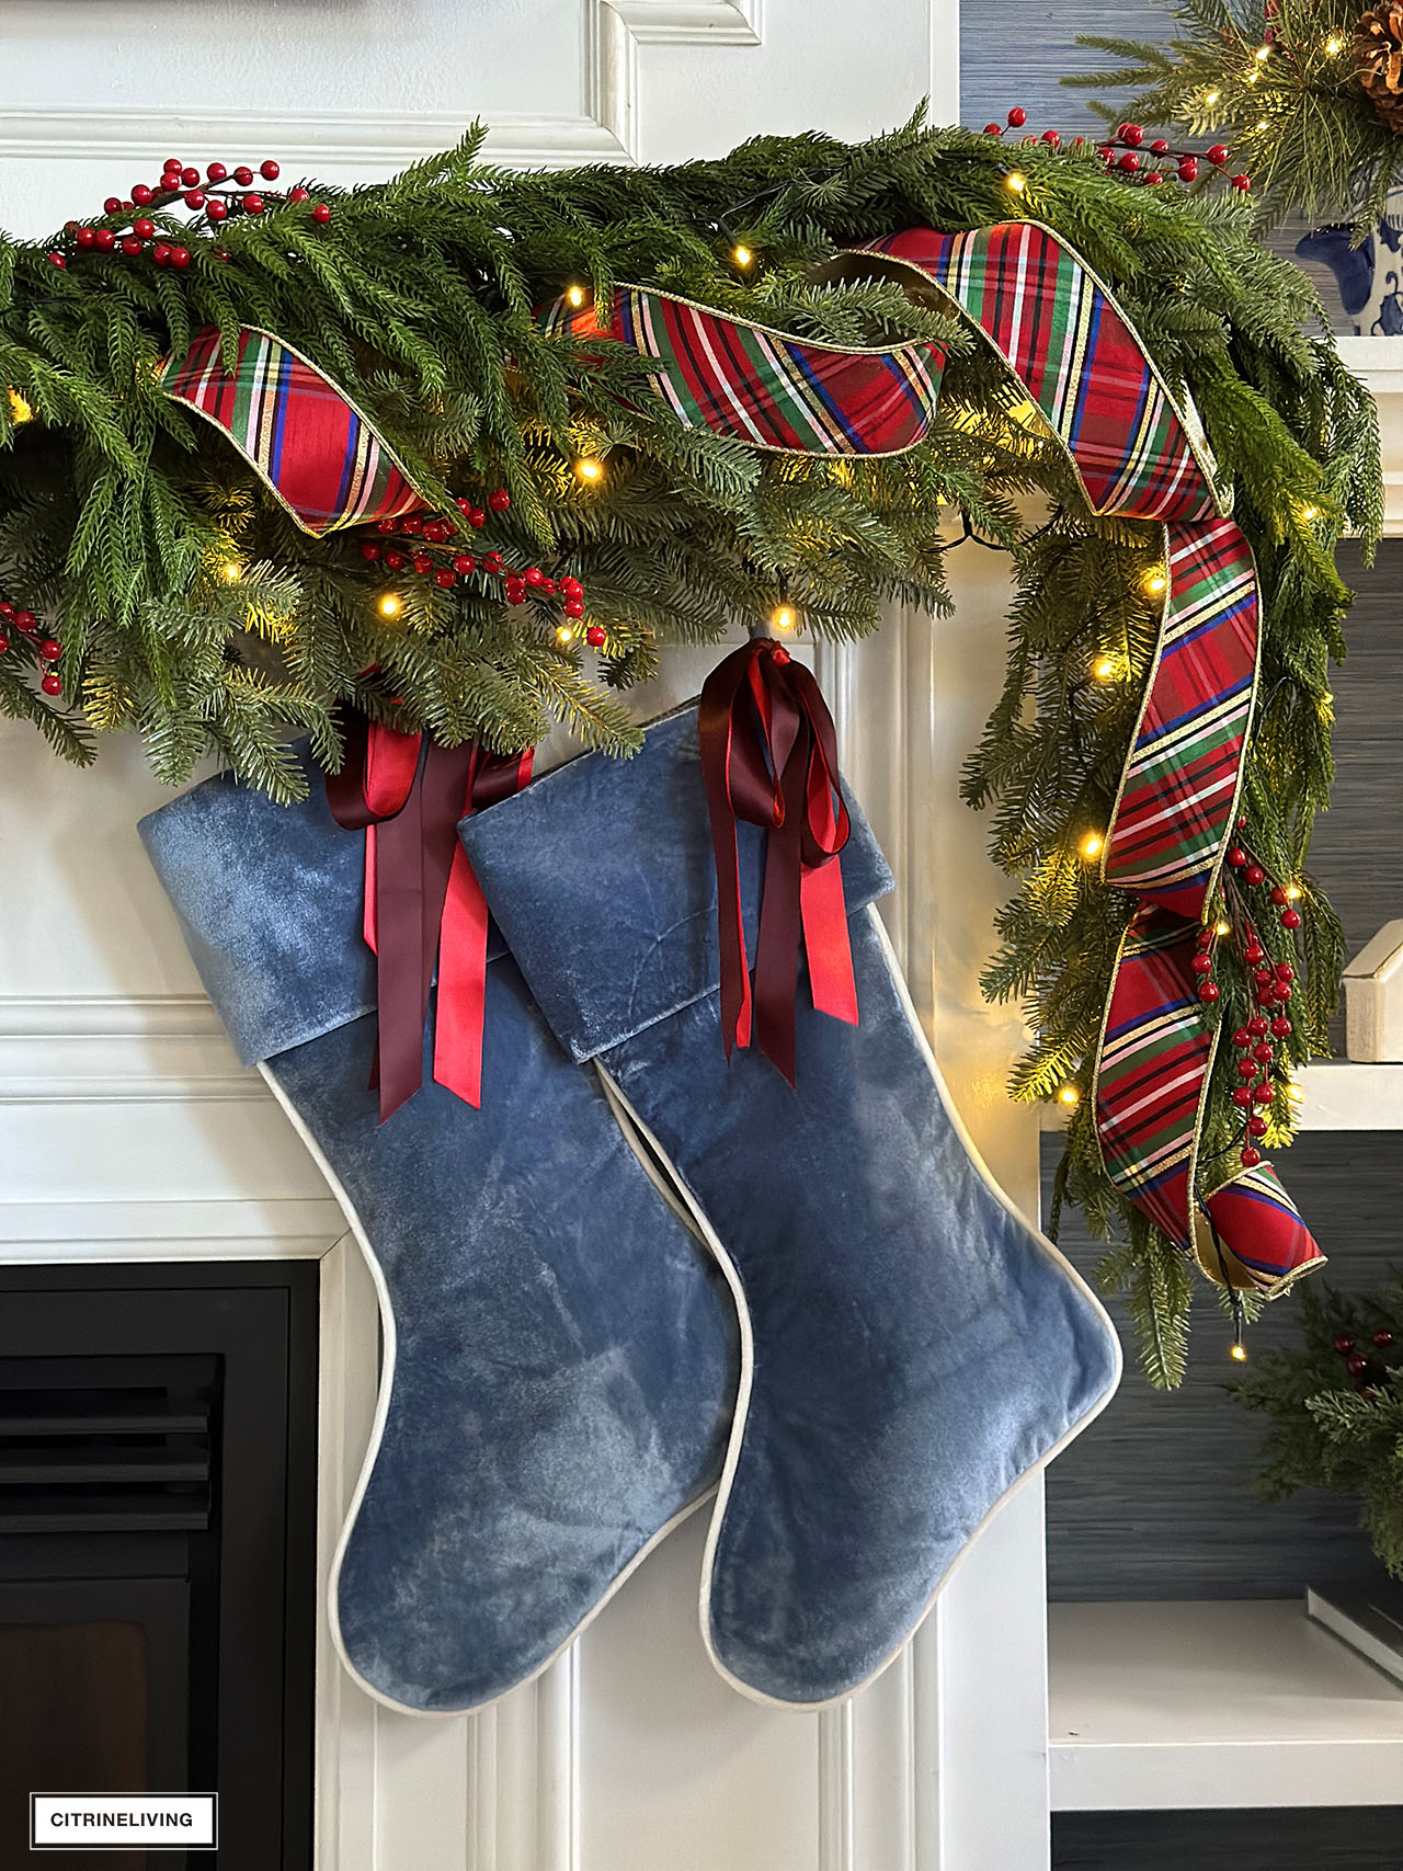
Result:
M311 1871L316 1261L0 1270L0 1871ZM219 1850L30 1854L30 1792Z

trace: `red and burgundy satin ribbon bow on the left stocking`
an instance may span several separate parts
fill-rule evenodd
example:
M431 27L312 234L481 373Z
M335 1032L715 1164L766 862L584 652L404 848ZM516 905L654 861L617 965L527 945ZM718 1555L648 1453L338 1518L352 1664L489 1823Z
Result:
M531 750L440 747L355 717L331 816L365 831L365 939L376 954L380 1123L423 1083L425 1020L438 962L434 1080L464 1102L483 1095L486 900L458 842L458 819L516 793Z

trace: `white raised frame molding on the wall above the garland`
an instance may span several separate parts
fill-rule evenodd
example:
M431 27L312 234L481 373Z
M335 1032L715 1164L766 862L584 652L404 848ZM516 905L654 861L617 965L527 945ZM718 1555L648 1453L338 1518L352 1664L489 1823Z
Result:
M516 168L638 159L640 45L759 45L761 0L582 0L580 114L503 110L488 114L485 155ZM483 116L400 110L146 110L118 105L36 103L0 122L0 157L45 161L159 163L166 150L198 144L277 150L288 170L303 165L402 168L451 148Z

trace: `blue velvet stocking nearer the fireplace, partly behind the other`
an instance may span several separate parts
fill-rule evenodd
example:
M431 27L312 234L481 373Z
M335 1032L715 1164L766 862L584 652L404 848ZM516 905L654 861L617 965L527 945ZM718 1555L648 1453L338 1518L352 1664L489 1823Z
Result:
M475 1708L541 1669L720 1474L735 1319L711 1257L488 965L483 1108L367 1089L363 840L210 780L142 823L245 1063L339 1186L382 1297L378 1437L333 1628L383 1701ZM499 941L494 943L499 950Z

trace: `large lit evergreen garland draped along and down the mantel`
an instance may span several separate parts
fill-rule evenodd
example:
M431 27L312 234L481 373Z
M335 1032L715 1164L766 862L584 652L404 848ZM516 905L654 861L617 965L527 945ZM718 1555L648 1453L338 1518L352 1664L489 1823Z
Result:
M892 281L814 281L838 247L894 228L1027 215L1115 292L1197 400L1237 488L1265 606L1248 838L1304 892L1309 992L1291 1055L1323 1050L1339 930L1302 863L1332 773L1328 660L1349 604L1334 544L1345 526L1366 548L1379 533L1377 421L1330 341L1302 335L1315 296L1253 243L1251 210L1135 185L1089 146L1014 148L920 116L866 144L763 137L660 170L511 174L481 165L479 144L473 133L374 187L316 189L325 225L305 202L204 230L155 215L189 247L180 273L86 251L58 269L51 243L0 243L0 385L15 393L0 399L0 584L64 642L69 703L36 694L21 642L0 659L0 711L79 761L94 732L135 730L172 784L213 750L284 799L297 791L290 726L339 765L337 703L499 750L565 720L627 752L638 730L619 690L668 644L763 625L776 602L834 640L875 629L889 602L947 610L945 552L975 531L1010 552L1018 582L1008 683L965 786L993 808L995 857L1020 879L984 986L1027 1003L1036 1037L1014 1091L1049 1096L1089 1068L1132 907L1079 844L1107 821L1134 730L1162 535L1089 513L1020 387L956 318ZM539 309L571 283L604 296L615 281L838 344L939 341L950 367L933 432L896 458L831 462L683 428L634 355L541 329ZM251 324L320 365L432 505L505 486L494 544L578 576L606 655L586 657L578 632L561 644L556 612L509 610L483 580L398 584L400 614L382 617L383 569L348 535L299 533L236 451L159 391L159 359L211 324L230 355ZM17 423L26 408L34 421ZM574 473L582 457L602 479ZM1266 937L1285 956L1289 937L1274 924ZM1235 1025L1244 1008L1246 986L1225 980L1220 1018ZM1208 1169L1235 1134L1229 1074L1220 1061ZM1266 1141L1283 1141L1285 1095L1270 1117ZM1064 1197L1100 1233L1121 1224L1107 1280L1128 1289L1150 1377L1177 1381L1186 1263L1106 1181L1087 1104Z

